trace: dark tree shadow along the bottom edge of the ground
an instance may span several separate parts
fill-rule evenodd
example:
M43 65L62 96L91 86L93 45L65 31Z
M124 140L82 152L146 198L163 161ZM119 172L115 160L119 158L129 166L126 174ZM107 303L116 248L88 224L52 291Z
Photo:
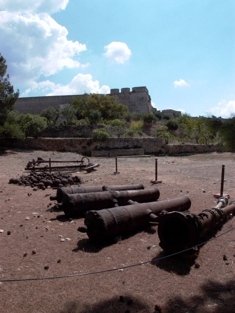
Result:
M156 303L150 306L140 297L120 295L92 303L92 305L82 304L80 300L67 302L58 313L234 313L234 277L224 284L215 280L207 280L193 292L190 282L188 284L189 294L194 293L194 295L187 297L186 300L185 297L177 295L168 298L165 304L160 305L156 298Z

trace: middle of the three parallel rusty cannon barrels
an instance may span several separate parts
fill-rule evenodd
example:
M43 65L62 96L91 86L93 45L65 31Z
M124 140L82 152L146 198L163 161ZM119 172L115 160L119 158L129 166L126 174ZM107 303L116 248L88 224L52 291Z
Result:
M103 192L74 193L63 196L62 210L68 217L81 216L93 209L102 210L120 205L157 200L160 192L157 188L143 190L115 190Z

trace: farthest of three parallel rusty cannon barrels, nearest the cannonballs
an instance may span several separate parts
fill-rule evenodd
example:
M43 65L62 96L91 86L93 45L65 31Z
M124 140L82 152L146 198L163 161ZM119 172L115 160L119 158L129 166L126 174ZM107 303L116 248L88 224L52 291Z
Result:
M56 196L51 196L50 200L57 200L58 203L62 202L63 196L65 193L86 193L86 192L101 192L103 191L104 186L68 186L58 188L56 191ZM129 184L129 185L111 185L107 186L109 190L140 190L144 189L144 185L141 183L138 184Z

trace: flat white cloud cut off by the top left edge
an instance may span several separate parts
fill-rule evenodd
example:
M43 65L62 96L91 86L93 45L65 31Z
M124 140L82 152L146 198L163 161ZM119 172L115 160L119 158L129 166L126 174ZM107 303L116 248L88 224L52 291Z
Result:
M65 10L69 0L0 0L0 10L26 13L55 13Z

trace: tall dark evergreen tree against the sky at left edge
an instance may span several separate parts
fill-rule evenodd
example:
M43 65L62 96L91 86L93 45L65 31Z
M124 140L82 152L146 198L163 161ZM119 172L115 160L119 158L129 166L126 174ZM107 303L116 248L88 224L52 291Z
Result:
M7 119L7 114L14 109L14 104L19 96L19 90L14 92L7 74L6 60L0 53L0 125Z

